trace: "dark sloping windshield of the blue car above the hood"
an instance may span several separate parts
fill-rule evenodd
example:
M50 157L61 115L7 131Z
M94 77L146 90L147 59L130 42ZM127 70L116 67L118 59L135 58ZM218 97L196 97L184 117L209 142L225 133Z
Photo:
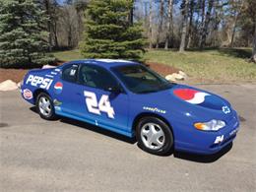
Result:
M143 65L114 67L113 72L135 94L159 92L172 86L159 74Z

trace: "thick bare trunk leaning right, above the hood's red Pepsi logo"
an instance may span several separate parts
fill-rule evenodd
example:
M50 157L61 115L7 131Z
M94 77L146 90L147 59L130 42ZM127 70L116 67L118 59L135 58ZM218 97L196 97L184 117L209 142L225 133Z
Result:
M184 0L184 8L183 8L183 20L182 20L182 31L181 31L181 40L179 45L179 52L183 52L185 50L185 41L186 41L186 33L187 33L187 15L188 15L188 0Z

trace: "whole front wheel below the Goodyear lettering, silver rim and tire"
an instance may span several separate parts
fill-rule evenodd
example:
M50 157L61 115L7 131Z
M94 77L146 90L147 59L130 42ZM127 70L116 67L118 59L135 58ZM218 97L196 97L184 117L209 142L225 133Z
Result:
M136 127L139 147L151 154L163 156L171 152L173 136L170 128L157 117L144 117Z

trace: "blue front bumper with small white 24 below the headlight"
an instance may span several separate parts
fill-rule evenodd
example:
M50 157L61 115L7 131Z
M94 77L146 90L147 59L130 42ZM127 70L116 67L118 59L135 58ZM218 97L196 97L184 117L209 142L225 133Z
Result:
M217 132L200 131L195 128L192 130L186 133L186 137L181 137L182 140L175 141L175 150L193 154L216 154L236 137L239 130L238 116L234 111L234 115L226 122L226 126Z

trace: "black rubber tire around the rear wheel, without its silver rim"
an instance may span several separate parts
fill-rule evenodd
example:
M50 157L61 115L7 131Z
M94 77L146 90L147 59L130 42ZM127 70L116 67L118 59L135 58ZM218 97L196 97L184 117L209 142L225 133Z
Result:
M39 102L40 99L45 98L46 100L49 101L48 106L50 108L50 111L48 113L43 113L40 110L40 106L39 106ZM54 104L52 102L52 99L49 95L45 94L45 93L40 93L38 96L36 96L36 102L35 102L35 106L36 106L36 110L38 112L38 114L40 115L41 118L46 119L46 120L54 120L56 119L56 114L55 114L55 110L54 110Z

